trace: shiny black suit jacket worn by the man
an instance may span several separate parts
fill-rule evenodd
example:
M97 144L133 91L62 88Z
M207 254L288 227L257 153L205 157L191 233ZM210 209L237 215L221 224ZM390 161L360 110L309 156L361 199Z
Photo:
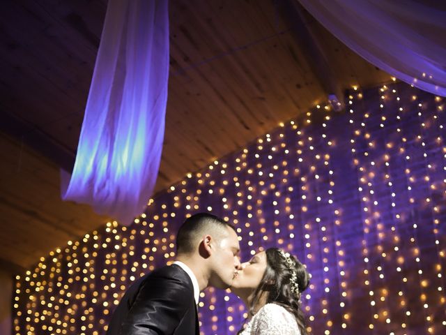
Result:
M107 335L198 335L190 276L178 265L156 269L125 292Z

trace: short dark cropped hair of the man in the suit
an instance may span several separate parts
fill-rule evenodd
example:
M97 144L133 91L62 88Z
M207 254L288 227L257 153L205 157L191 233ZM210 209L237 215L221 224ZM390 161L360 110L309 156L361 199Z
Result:
M228 227L235 230L233 225L213 214L194 214L184 221L176 234L176 251L177 253L192 253L197 246L197 240L203 234L211 234L215 238L222 237Z

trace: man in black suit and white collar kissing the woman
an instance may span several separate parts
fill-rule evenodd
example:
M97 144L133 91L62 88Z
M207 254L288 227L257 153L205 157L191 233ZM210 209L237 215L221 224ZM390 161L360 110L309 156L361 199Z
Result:
M198 335L199 293L226 289L240 269L238 237L229 223L195 214L176 236L177 257L130 286L114 311L107 335Z

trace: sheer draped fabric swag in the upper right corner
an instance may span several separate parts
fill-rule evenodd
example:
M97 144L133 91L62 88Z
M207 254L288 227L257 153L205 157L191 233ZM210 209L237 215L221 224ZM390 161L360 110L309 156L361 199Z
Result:
M298 0L371 64L446 96L446 3L408 0Z

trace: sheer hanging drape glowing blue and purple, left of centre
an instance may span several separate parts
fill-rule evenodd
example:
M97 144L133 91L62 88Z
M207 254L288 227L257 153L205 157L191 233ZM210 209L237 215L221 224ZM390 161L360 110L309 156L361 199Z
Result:
M129 224L160 165L169 73L168 1L109 0L64 200Z

